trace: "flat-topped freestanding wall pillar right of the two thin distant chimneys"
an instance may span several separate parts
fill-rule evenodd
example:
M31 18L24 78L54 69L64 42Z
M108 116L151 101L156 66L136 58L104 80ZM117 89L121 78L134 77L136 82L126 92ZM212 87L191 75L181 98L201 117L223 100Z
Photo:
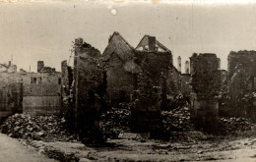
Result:
M198 126L214 126L219 112L218 96L221 90L220 59L216 54L194 53L190 57L192 76L192 118Z

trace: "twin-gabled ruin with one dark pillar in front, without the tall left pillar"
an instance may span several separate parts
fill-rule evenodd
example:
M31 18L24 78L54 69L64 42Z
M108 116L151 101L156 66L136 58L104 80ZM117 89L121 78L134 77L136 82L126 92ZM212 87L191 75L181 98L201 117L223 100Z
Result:
M155 36L145 35L134 48L114 32L102 56L110 102L133 102L133 123L147 130L159 118L160 108L169 106L170 97L180 91L181 75L171 51Z

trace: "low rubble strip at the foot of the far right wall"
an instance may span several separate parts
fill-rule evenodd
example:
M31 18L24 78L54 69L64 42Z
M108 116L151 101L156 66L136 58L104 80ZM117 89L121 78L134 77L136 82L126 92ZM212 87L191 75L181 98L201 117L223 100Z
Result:
M246 118L219 118L219 132L229 134L251 130L252 122Z

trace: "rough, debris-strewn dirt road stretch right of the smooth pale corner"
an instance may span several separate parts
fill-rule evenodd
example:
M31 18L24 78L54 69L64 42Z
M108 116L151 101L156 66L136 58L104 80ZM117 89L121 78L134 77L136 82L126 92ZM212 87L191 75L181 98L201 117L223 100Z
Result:
M256 138L195 142L146 142L111 139L112 146L89 147L80 142L32 141L37 148L73 152L82 161L256 161Z

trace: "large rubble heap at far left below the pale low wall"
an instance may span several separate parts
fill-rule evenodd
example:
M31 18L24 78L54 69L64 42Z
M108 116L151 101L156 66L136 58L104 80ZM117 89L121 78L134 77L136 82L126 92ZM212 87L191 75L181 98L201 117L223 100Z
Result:
M35 140L63 140L71 139L65 129L64 118L57 116L37 116L31 114L15 114L9 117L0 127L3 134Z

